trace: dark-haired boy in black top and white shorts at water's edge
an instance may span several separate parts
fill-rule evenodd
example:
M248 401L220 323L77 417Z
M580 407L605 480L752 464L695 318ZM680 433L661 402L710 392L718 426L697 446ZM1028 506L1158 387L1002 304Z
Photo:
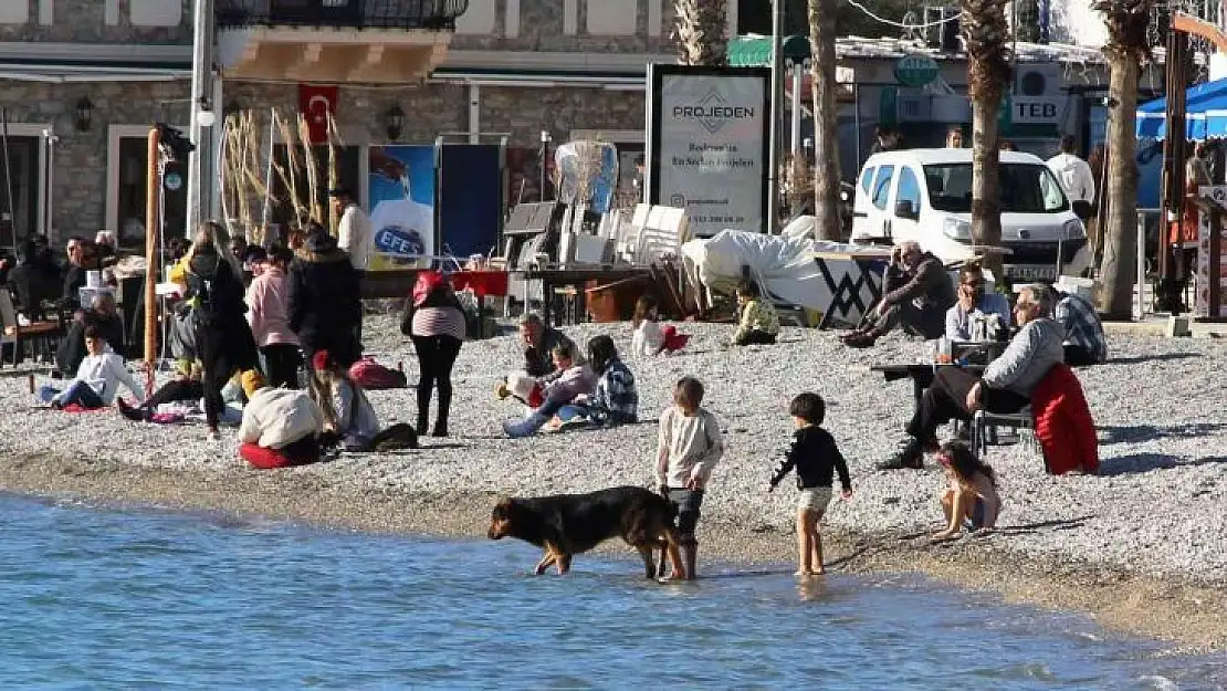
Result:
M796 574L814 576L826 573L822 566L822 535L818 522L831 503L832 475L839 474L839 486L843 498L852 497L852 480L848 477L848 464L829 432L821 427L826 417L827 405L822 396L812 393L799 394L788 406L796 432L793 433L793 446L779 468L772 473L768 492L793 470L796 469L796 488L801 500L796 504Z

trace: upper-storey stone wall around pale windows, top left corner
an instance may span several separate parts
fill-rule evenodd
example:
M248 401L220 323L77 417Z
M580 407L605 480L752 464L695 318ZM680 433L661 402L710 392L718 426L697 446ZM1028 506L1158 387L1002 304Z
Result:
M52 23L42 22L38 0L0 0L29 2L26 23L0 23L0 41L54 41L63 43L191 43L193 0L53 0ZM134 2L142 2L140 7ZM140 26L134 23L146 6L182 2L177 26ZM110 7L112 11L108 11ZM166 16L166 11L155 12ZM114 23L110 23L110 20Z

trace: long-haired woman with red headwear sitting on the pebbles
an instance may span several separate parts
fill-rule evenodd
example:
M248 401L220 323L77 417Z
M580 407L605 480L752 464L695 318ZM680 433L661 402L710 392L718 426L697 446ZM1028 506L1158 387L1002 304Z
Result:
M417 431L396 423L382 430L366 390L326 350L312 356L312 396L324 414L324 447L346 452L417 448Z

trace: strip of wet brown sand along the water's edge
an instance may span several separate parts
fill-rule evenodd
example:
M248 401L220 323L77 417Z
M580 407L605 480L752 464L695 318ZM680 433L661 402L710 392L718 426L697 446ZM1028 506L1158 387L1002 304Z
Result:
M425 491L345 486L304 470L253 471L240 466L183 470L54 454L0 454L0 490L88 501L106 508L151 508L261 517L320 529L372 534L485 539L488 491ZM701 562L791 567L790 530L736 513L704 518ZM964 590L990 592L1006 603L1088 615L1109 631L1172 643L1177 653L1222 650L1227 596L1214 583L1158 578L1126 568L1036 556L1004 540L963 538L931 545L928 533L855 534L825 527L828 571L848 574L920 573ZM618 541L600 551L627 552ZM583 563L582 557L578 563ZM531 567L525 563L525 571ZM582 568L582 566L580 566ZM782 572L784 578L790 574Z

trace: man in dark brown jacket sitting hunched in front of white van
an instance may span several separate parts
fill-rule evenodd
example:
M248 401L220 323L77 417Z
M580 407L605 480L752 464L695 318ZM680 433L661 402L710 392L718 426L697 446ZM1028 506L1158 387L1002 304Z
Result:
M869 324L839 340L849 347L872 347L898 325L909 334L936 339L945 331L946 311L955 302L955 286L941 259L921 250L919 243L904 241L891 253L882 299L867 315Z

